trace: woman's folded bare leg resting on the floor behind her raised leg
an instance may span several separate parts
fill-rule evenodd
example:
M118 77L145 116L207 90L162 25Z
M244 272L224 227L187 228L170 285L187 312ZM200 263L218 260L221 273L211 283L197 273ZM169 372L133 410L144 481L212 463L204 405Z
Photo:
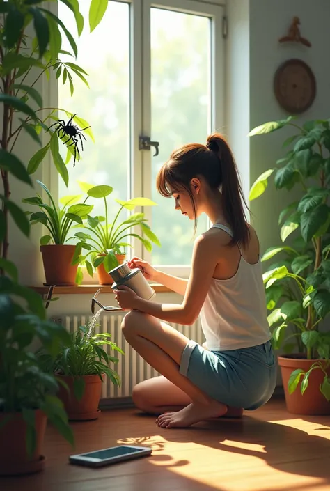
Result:
M132 393L133 402L139 410L148 414L180 411L191 403L191 398L162 375L144 380L137 384ZM237 418L243 410L238 407L228 407L224 417Z

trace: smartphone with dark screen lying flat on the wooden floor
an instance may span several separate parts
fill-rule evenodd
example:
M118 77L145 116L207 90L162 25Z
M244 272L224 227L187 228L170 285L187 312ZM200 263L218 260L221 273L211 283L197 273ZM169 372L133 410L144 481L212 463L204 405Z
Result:
M70 455L70 464L86 465L87 467L102 467L103 465L116 464L124 460L132 460L151 455L152 449L146 446L120 445L109 449L94 452Z

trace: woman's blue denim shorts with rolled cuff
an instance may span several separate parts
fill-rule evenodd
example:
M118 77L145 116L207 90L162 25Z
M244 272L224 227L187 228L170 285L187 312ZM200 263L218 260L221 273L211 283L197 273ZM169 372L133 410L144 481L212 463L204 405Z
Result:
M277 367L270 341L240 350L208 351L191 340L182 353L180 373L220 403L256 410L274 393Z

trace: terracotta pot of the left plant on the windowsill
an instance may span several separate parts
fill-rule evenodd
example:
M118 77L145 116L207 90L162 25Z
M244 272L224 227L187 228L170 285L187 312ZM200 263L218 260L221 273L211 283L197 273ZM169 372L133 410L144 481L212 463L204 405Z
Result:
M47 285L74 286L78 265L72 265L74 245L40 246Z

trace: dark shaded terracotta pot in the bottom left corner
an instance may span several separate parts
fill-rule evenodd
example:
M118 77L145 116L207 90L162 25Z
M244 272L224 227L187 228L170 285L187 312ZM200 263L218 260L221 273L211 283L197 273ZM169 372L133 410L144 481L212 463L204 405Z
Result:
M33 474L45 467L45 457L41 455L45 437L47 416L40 410L34 412L36 418L36 449L33 455L26 451L26 422L21 412L0 413L0 476ZM4 419L8 422L2 425Z

